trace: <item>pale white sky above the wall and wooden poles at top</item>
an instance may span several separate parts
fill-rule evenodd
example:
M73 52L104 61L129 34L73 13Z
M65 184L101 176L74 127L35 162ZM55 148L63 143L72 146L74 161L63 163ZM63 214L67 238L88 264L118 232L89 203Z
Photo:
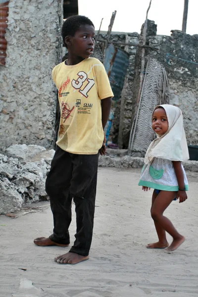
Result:
M150 0L78 0L78 13L89 17L101 31L107 31L112 12L117 10L112 31L138 32L146 19ZM152 0L148 19L157 24L158 35L170 35L182 30L184 0ZM187 34L198 34L198 0L189 0Z

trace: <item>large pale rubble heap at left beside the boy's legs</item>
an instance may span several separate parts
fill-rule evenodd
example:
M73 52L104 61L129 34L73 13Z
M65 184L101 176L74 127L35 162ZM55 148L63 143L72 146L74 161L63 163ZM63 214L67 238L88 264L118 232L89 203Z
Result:
M18 211L23 203L49 199L45 191L54 150L13 145L0 154L0 214Z

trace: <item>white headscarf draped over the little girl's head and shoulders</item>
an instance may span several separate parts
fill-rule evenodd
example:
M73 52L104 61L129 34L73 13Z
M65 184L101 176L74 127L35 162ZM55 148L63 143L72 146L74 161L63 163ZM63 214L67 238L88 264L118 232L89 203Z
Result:
M166 112L168 130L161 136L157 135L157 138L151 142L145 155L145 163L148 164L154 157L171 161L188 160L189 150L181 109L169 104L157 105L155 109L159 106L163 107Z

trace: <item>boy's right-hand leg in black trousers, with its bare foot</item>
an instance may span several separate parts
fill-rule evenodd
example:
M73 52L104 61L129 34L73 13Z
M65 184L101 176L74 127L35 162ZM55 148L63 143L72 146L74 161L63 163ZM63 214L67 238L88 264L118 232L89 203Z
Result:
M72 155L71 193L76 205L76 240L66 254L56 257L58 263L76 264L89 258L92 243L98 174L97 155Z

